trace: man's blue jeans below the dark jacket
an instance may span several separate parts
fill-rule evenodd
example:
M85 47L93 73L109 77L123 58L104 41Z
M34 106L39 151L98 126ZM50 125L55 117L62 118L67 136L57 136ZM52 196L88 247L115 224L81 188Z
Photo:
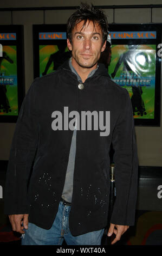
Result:
M69 230L70 206L59 204L59 209L52 227L48 230L30 223L25 234L22 235L22 245L62 245L63 240L67 245L101 245L104 229L73 236Z

